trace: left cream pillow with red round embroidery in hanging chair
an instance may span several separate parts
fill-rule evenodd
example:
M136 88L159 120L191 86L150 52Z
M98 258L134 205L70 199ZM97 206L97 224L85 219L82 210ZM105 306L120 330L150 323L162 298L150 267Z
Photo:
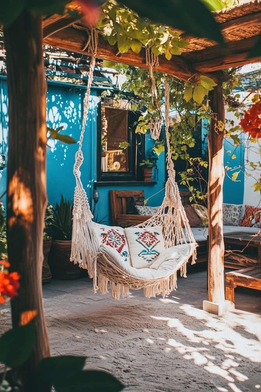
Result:
M99 245L110 249L110 255L113 252L116 256L121 256L122 260L131 265L130 252L128 241L126 240L126 233L122 227L106 226L95 223Z

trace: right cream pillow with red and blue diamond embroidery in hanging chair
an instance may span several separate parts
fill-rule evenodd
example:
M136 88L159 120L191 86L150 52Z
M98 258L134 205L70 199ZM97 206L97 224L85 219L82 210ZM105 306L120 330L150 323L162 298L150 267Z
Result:
M164 250L162 227L126 227L125 231L132 267L148 268Z

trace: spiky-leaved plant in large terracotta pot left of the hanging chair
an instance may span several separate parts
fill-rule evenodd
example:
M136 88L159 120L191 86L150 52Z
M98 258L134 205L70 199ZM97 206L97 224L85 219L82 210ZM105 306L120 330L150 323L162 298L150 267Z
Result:
M77 279L80 267L70 261L72 248L72 203L61 194L60 204L52 207L52 219L48 229L52 236L52 244L48 263L52 276L56 279Z

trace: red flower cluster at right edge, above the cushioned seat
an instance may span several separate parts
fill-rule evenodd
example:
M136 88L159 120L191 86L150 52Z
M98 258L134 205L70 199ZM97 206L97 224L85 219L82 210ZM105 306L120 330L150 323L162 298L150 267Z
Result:
M261 138L261 100L254 103L245 116L239 122L243 131L249 133L252 138Z

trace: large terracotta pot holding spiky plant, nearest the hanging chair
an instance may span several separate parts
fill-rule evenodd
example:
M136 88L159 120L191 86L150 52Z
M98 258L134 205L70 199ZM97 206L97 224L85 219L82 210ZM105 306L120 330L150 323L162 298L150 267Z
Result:
M52 240L48 263L54 278L71 280L80 277L79 265L70 261L71 248L72 241Z

